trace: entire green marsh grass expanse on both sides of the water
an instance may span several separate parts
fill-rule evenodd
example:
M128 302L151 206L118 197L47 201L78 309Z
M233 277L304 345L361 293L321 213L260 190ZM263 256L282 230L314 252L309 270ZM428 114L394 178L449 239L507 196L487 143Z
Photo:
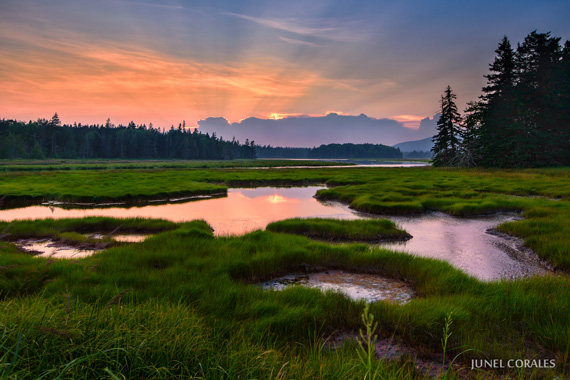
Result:
M43 197L57 182L109 181L113 176L120 181L108 182L108 192L117 197L140 183L154 183L164 191L167 184L176 189L187 183L326 182L330 188L320 191L319 198L361 211L440 210L469 216L520 210L524 220L499 229L524 238L526 245L558 268L570 268L568 169L14 172L0 177L0 193L8 198L37 191L34 194ZM31 186L34 178L35 190L20 187ZM76 193L70 195L83 192L82 196L93 197L99 188L71 188ZM33 258L18 253L10 243L16 236L63 234L80 239L73 233L103 227L112 232L117 226L124 232L123 228L136 230L146 223L159 233L81 260ZM408 304L370 305L378 323L371 333L395 336L436 362L441 363L444 351L448 362L462 353L455 362L467 366L473 358L554 359L554 370L505 369L494 376L564 378L569 373L566 275L482 283L437 260L272 231L214 237L200 221L88 218L3 223L0 228L2 234L10 234L0 242L0 378L362 379L367 373L421 378L405 360L372 360L364 366L356 344L323 349L331 334L363 327L364 303L315 289L276 292L255 286L317 268L375 273L410 283L418 298ZM451 335L445 333L449 315L453 315ZM444 348L445 335L449 336ZM452 368L447 377L464 374Z

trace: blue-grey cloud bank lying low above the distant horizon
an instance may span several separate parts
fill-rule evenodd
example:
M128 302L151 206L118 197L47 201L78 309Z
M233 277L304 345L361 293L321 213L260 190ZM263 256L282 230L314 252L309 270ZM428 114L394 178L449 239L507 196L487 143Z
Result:
M330 113L318 117L287 117L280 120L250 117L239 123L229 123L223 117L200 120L202 133L216 133L225 140L240 142L254 140L257 145L313 147L332 143L371 143L394 145L404 141L420 140L435 134L436 117L426 117L419 129L403 126L392 119L374 119Z

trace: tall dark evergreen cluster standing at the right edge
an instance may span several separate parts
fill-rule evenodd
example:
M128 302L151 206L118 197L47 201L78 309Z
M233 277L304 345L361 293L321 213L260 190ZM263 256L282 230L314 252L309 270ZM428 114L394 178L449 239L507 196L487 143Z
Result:
M448 86L434 137L436 166L570 165L570 41L530 33L516 49L504 37L487 85L464 115Z

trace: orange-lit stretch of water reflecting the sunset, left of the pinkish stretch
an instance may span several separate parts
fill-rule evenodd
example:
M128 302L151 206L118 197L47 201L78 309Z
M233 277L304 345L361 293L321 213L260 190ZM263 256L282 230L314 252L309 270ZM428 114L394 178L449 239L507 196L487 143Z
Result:
M267 224L296 217L356 219L351 210L337 203L319 202L313 195L322 186L260 187L229 189L228 196L187 203L147 205L143 207L107 207L103 209L63 209L58 205L30 206L0 211L0 220L83 218L161 218L174 222L203 219L216 235L243 235L264 229Z

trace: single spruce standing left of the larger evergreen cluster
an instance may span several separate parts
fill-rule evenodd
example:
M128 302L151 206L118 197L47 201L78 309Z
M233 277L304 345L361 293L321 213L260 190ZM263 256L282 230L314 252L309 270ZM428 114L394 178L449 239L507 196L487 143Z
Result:
M433 166L459 165L461 115L457 111L457 96L447 86L441 97L441 116L437 121L437 135L433 137Z

